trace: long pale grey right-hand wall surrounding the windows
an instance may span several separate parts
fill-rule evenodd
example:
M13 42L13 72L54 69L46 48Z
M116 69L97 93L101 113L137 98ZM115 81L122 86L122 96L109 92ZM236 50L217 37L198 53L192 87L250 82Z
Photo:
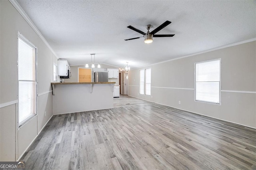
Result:
M194 101L194 63L218 58L222 61L221 105ZM138 94L140 69L129 71L130 96L256 128L255 41L149 67L152 99Z

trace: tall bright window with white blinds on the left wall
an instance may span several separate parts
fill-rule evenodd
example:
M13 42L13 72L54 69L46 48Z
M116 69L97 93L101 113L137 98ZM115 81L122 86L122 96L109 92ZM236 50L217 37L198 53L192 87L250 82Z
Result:
M36 115L36 47L18 36L18 123Z

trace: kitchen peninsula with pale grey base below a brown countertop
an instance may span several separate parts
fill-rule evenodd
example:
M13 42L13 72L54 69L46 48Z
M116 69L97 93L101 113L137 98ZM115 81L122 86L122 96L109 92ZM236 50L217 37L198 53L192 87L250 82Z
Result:
M51 83L53 114L111 109L115 82Z

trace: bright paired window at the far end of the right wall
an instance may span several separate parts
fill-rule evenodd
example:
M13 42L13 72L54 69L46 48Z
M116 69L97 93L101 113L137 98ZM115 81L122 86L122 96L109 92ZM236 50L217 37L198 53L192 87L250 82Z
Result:
M140 70L140 94L151 95L151 68Z

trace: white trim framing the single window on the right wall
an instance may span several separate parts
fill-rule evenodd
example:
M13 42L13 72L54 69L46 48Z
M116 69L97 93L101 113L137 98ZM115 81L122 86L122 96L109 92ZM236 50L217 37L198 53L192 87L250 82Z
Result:
M214 102L207 102L207 101L197 101L196 100L196 64L198 63L205 63L205 62L209 62L209 61L217 61L220 60L220 84L219 84L219 98L220 98L220 103L214 103ZM207 60L207 61L200 61L200 62L196 62L194 63L194 101L195 102L200 102L200 103L208 103L208 104L212 104L212 105L221 105L221 58L218 59L212 59L212 60Z

